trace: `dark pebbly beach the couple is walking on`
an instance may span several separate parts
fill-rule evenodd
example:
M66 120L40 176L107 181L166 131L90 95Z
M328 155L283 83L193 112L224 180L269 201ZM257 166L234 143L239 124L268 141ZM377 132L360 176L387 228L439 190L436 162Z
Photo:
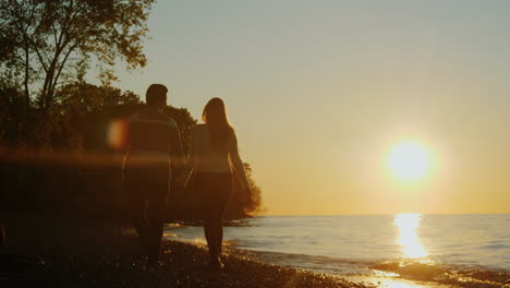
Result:
M1 287L371 287L236 255L210 273L204 249L175 241L162 243L162 266L147 271L125 223L9 213L0 225Z

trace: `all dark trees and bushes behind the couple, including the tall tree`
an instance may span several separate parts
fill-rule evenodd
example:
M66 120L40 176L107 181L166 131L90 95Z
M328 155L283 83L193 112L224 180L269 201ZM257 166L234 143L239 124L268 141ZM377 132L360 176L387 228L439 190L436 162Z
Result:
M114 65L143 68L151 0L0 1L0 208L80 216L124 217L122 120L139 96L112 86ZM95 59L100 85L84 79ZM196 123L185 108L165 113L180 129L185 149ZM251 177L251 167L245 164ZM228 218L260 209L239 183ZM177 191L179 192L179 191ZM169 218L193 219L193 193L181 193Z

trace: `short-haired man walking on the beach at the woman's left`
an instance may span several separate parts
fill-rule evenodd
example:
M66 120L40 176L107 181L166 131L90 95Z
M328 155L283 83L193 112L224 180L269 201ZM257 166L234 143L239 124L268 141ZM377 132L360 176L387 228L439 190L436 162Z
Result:
M158 263L171 173L179 175L185 165L179 128L161 112L167 92L165 85L151 84L147 105L130 117L123 164L131 216L148 265Z

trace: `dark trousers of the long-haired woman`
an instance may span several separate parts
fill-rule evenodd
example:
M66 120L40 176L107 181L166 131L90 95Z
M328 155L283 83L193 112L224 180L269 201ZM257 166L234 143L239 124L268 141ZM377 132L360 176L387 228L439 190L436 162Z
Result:
M221 254L223 241L223 213L232 192L231 173L197 172L196 193L199 201L204 233L211 260Z

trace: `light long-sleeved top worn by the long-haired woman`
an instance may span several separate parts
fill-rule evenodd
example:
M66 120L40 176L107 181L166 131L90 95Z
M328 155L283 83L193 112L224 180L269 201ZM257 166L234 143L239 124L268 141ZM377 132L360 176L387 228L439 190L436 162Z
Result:
M223 147L214 148L209 141L209 130L206 124L197 124L191 131L191 152L189 165L202 172L232 172L240 177L244 187L250 187L244 165L239 156L238 139L235 133L229 136Z

